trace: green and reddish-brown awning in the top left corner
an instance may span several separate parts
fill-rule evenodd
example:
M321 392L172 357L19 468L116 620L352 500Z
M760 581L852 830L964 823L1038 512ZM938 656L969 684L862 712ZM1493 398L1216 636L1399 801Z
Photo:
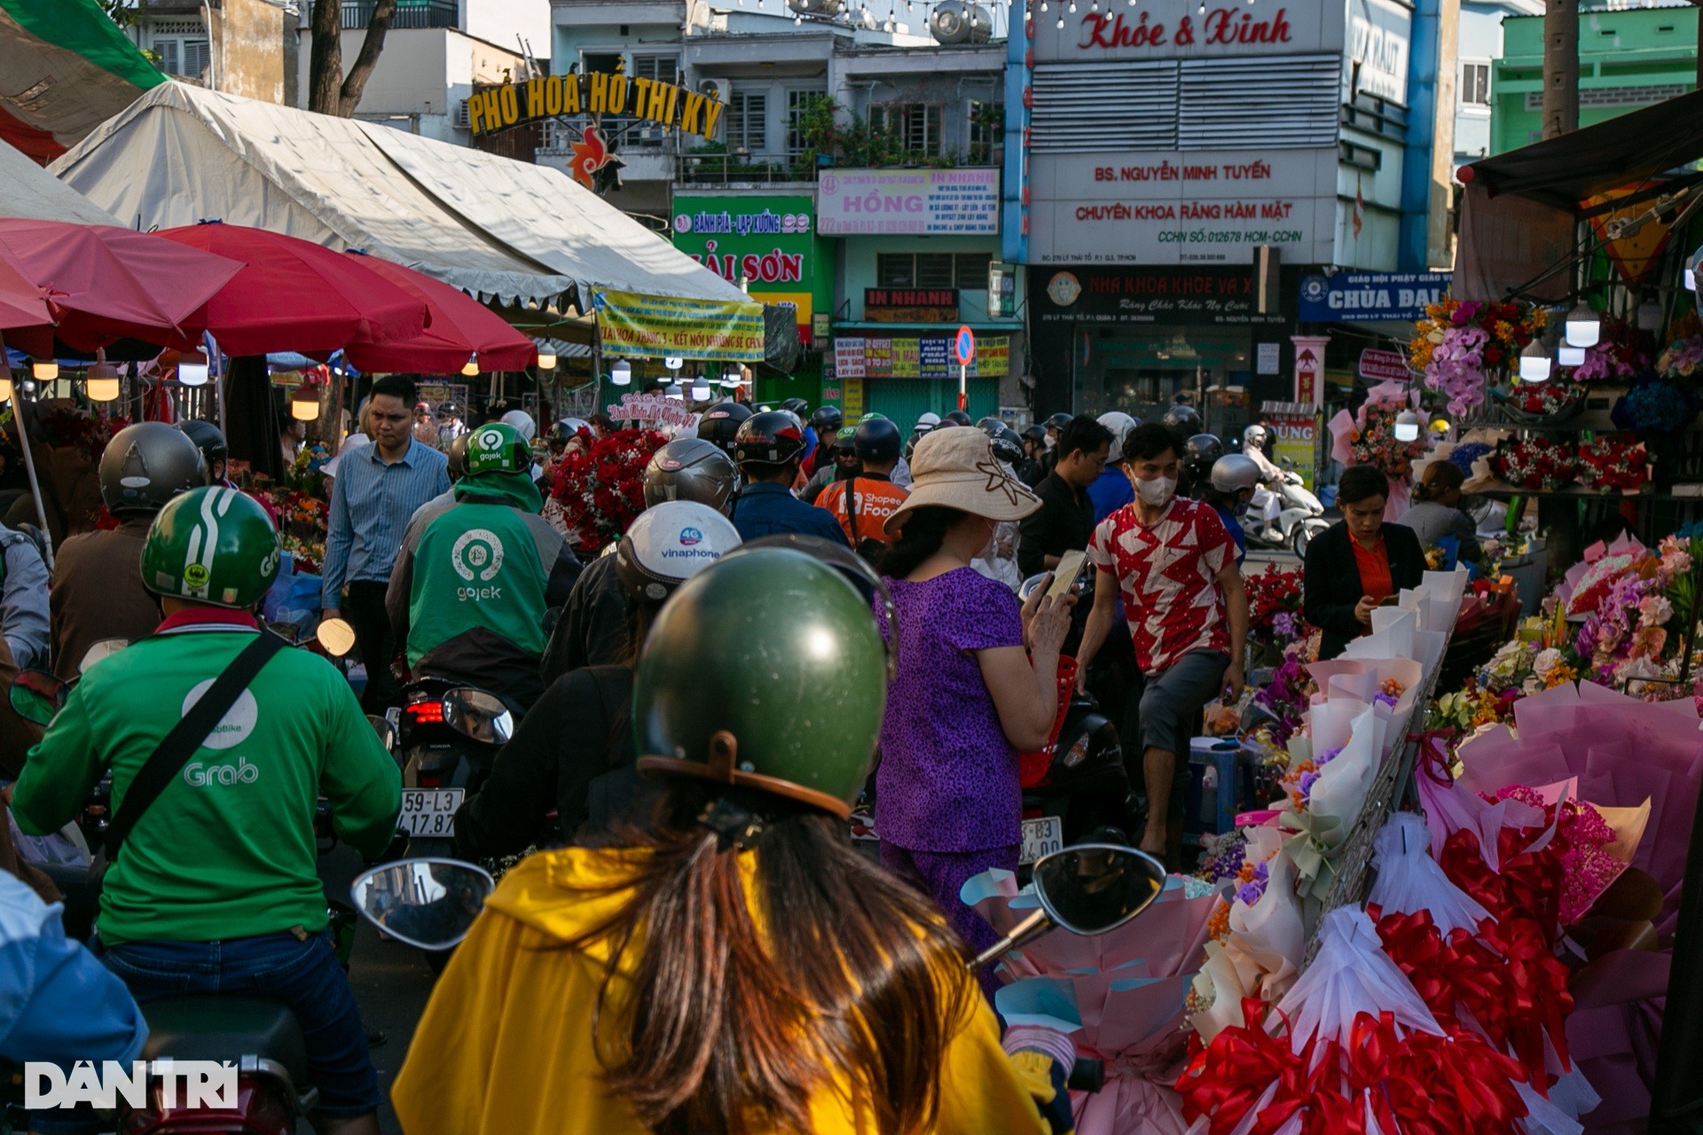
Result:
M95 0L0 0L0 141L37 162L165 83Z

